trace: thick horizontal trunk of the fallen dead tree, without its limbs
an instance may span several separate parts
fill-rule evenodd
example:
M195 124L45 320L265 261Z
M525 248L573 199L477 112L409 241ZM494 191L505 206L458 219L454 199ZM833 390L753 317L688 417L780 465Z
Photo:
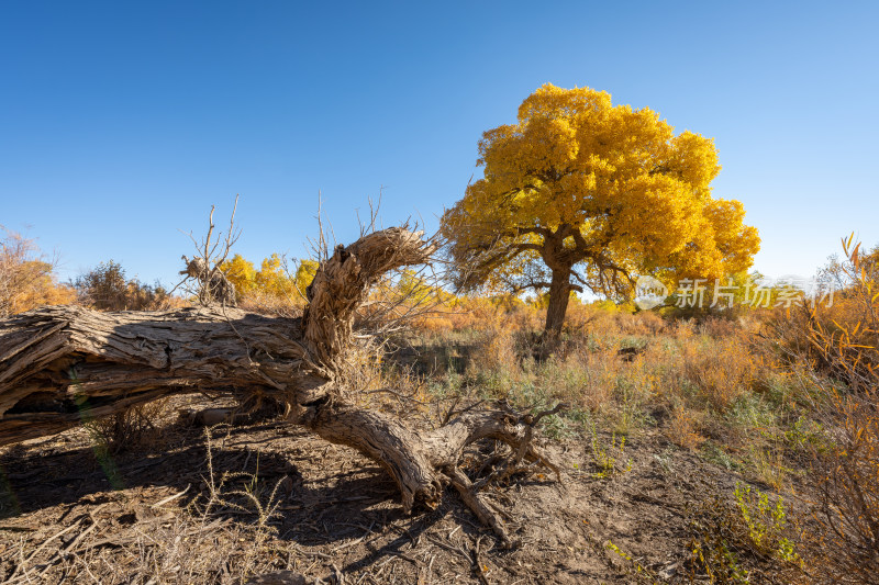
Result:
M170 393L326 398L300 319L235 308L98 313L48 306L0 323L0 445Z

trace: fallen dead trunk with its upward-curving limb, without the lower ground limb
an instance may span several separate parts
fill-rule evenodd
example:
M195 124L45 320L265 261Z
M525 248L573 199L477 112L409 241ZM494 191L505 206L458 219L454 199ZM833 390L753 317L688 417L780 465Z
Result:
M268 395L301 407L330 402L369 288L390 270L425 262L434 249L402 227L337 246L321 262L301 318L224 306L48 306L0 322L0 445L168 393Z

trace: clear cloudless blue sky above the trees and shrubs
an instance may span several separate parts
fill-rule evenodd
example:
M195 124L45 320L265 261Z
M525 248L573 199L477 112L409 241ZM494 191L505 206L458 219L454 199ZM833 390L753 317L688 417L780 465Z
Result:
M877 7L7 1L0 224L65 279L112 258L165 283L235 193L256 262L305 254L319 190L340 241L381 185L386 225L434 228L548 81L714 137L755 268L809 275L852 230L879 243Z

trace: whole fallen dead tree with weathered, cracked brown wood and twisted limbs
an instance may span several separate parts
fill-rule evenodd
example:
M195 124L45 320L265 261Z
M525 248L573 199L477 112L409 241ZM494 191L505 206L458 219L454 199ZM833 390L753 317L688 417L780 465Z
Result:
M321 263L301 318L225 306L98 313L49 306L0 322L0 446L55 434L173 393L223 392L275 398L290 419L353 447L397 482L402 505L438 505L454 485L480 520L510 543L478 494L530 463L555 470L532 445L535 416L470 410L432 430L346 400L337 380L352 347L355 311L389 270L424 263L434 251L420 233L391 228L336 247ZM464 449L492 438L507 461L477 484L458 468Z

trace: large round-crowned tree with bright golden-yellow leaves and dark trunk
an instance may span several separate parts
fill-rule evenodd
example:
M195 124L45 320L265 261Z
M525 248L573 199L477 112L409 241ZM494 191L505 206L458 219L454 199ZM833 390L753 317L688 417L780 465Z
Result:
M483 178L442 221L456 284L548 291L546 336L560 333L571 291L717 278L759 249L742 203L712 198L714 142L604 91L541 87L516 124L482 135L477 164Z

